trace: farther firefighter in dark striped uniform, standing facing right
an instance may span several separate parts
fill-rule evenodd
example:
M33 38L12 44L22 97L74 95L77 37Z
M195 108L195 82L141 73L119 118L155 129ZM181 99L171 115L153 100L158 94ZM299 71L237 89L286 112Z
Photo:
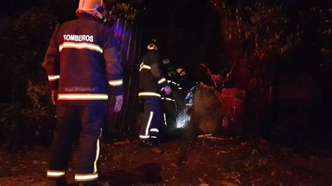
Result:
M163 123L160 90L165 94L171 94L172 90L160 71L161 60L154 39L147 49L139 66L139 99L144 104L139 141L142 146L155 146Z

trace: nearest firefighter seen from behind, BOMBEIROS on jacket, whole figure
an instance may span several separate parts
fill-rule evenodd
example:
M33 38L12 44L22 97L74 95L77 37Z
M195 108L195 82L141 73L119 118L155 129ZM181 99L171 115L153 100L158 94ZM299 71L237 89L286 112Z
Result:
M102 0L81 0L78 19L57 27L50 40L43 66L56 101L57 125L47 171L49 185L65 184L77 132L75 180L80 185L97 183L99 139L109 94L116 97L116 112L123 104L123 69L111 28L103 24L107 13Z

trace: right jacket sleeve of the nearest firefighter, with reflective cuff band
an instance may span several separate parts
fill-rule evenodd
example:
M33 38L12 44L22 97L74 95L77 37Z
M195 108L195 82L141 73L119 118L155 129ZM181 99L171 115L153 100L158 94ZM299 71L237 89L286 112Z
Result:
M118 96L123 94L123 68L121 66L121 54L116 48L116 39L113 37L111 29L106 29L104 41L107 80L111 87L111 94Z

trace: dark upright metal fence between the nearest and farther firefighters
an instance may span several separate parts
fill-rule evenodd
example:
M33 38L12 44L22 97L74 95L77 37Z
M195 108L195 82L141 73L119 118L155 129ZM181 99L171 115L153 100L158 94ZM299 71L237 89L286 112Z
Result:
M113 34L116 46L122 55L124 100L123 110L120 113L113 112L115 100L111 101L106 116L106 129L108 134L113 134L114 131L123 134L130 130L137 112L137 72L141 56L141 28L138 23L127 22L118 17L113 25Z

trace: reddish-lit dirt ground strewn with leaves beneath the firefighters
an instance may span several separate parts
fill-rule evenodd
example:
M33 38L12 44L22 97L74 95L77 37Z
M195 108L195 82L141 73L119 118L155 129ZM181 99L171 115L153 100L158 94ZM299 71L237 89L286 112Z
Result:
M49 151L0 152L0 185L47 185ZM201 136L158 148L126 140L102 145L99 176L104 185L332 185L332 154L302 155L260 138ZM67 179L74 185L72 169Z

